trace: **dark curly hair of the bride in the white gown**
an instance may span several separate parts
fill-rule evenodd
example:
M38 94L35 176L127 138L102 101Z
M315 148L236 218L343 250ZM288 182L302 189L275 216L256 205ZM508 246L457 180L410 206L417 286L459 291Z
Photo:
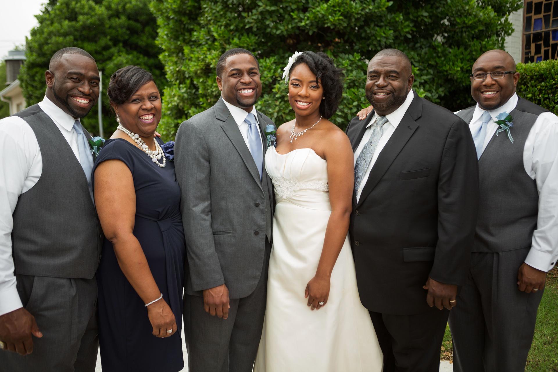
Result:
M316 80L321 80L324 99L320 104L320 114L329 119L335 114L343 95L343 69L338 69L324 52L304 52L297 57L289 70L289 75L300 64L308 66ZM290 76L289 76L290 78Z

